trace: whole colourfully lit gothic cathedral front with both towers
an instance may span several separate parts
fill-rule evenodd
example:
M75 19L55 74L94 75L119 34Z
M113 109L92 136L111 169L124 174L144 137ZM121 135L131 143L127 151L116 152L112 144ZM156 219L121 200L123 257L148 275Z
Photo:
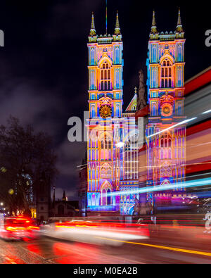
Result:
M180 11L176 31L158 33L155 13L148 42L148 125L145 183L139 171L137 94L123 105L122 34L118 13L114 34L89 33L89 120L87 120L87 211L132 215L140 187L177 184L185 178L184 31ZM176 188L176 187L175 187ZM182 192L182 193L181 193ZM146 194L162 206L183 189Z

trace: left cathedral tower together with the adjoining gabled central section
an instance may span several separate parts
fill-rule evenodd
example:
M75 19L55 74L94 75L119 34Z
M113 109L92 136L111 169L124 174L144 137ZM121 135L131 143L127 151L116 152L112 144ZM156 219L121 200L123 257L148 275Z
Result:
M87 210L132 214L138 189L136 91L123 113L124 61L118 13L111 36L96 34L94 15L89 34L89 120L87 120Z

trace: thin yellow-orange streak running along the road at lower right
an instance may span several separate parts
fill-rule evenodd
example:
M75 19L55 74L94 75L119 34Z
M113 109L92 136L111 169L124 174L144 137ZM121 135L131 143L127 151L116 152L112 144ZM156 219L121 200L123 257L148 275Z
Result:
M98 237L98 236L95 236L95 237ZM122 242L124 244L136 244L136 245L141 245L141 246L160 248L160 249L182 252L182 253L191 253L191 254L196 254L196 255L206 255L206 256L211 257L211 253L202 252L202 251L195 251L195 250L189 250L189 249L183 249L183 248L167 247L167 246L154 245L154 244L142 244L140 242L132 242L132 241L120 241L118 239L108 239L106 237L101 237L101 239L108 240L108 241L119 241L119 242Z

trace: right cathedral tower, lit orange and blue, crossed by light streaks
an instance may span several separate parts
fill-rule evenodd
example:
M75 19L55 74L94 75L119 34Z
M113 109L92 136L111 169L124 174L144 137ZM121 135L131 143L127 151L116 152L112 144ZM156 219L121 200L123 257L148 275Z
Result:
M180 11L177 28L158 33L155 12L148 42L148 105L146 127L147 186L175 184L173 191L156 192L157 206L174 203L184 190L186 127L184 122L184 31Z

